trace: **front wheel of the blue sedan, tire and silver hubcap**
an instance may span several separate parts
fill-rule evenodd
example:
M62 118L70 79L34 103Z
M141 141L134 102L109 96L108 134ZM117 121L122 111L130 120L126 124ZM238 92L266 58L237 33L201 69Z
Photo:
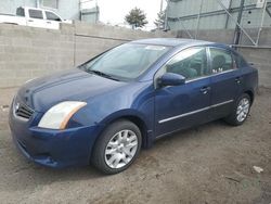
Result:
M138 157L141 143L142 136L138 126L129 120L117 120L99 137L91 163L104 174L120 173Z

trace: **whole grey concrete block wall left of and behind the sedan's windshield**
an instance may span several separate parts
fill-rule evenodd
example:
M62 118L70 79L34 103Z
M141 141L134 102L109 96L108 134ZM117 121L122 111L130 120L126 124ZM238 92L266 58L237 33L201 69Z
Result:
M0 25L0 88L72 68L117 44L173 34L145 33L76 22L60 30Z

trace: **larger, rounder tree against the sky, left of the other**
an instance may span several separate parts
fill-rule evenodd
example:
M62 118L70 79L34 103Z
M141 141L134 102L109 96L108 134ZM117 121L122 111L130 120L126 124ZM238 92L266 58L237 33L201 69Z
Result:
M125 16L125 21L132 26L132 28L143 27L147 24L145 13L139 9L132 9L128 15Z

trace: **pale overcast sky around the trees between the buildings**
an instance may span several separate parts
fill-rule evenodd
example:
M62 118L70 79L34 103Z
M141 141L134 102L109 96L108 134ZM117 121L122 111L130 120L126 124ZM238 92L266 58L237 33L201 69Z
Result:
M95 1L100 7L100 21L112 25L124 24L125 16L133 8L140 8L146 14L149 24L146 29L155 28L154 21L157 18L157 13L160 11L160 0L81 0L85 7L93 7ZM166 3L164 2L164 8Z

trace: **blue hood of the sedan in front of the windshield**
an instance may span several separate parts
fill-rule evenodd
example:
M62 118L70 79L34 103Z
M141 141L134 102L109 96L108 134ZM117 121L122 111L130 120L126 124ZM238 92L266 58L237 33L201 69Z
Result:
M26 82L17 98L36 112L46 112L62 101L87 101L124 85L74 68Z

